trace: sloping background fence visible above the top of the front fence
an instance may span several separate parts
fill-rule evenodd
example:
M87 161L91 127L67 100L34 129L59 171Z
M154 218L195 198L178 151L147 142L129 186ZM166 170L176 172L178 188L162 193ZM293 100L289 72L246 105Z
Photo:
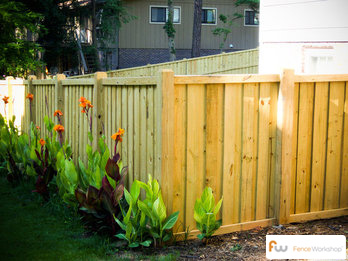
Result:
M108 77L157 76L158 72L163 69L171 69L175 74L180 75L250 74L258 73L258 65L259 50L251 49L109 71L107 75ZM71 78L93 78L93 74Z

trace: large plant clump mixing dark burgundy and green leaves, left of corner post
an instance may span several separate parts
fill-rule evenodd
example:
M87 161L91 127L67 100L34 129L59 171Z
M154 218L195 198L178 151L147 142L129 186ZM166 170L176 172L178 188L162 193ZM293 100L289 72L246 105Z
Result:
M80 161L80 177L83 178L80 178L80 185L75 190L75 196L81 212L93 229L111 227L112 232L115 233L114 216L120 212L119 201L123 196L128 168L123 167L119 153L109 158L109 149L104 140L105 137L99 139L100 152L92 153L92 147L87 145L89 167L91 164L95 170L88 172L82 169L84 165Z

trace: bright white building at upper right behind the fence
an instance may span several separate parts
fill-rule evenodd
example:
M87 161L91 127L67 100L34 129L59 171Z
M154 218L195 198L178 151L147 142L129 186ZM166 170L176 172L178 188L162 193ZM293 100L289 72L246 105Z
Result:
M259 73L348 73L348 0L260 0Z

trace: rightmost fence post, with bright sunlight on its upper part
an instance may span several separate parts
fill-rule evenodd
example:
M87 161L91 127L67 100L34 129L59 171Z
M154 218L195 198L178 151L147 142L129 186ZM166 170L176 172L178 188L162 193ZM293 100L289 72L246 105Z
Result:
M285 69L280 77L277 116L276 176L278 181L279 205L276 217L279 224L286 224L290 217L293 122L294 122L294 70Z

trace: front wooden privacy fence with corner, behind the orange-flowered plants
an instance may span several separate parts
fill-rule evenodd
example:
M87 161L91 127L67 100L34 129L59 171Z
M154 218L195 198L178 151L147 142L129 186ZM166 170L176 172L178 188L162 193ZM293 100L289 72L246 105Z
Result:
M178 235L195 228L205 186L224 197L217 234L348 214L348 75L106 76L27 81L33 120L62 109L74 159L85 159L78 99L90 99L95 140L104 132L111 149L126 129L129 184L160 180Z

